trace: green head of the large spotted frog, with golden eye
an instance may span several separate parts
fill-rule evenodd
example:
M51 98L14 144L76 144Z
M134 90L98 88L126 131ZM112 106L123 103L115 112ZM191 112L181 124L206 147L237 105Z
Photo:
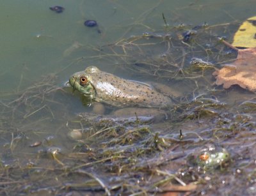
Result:
M88 70L88 68L86 69ZM83 72L77 72L70 76L69 84L73 87L74 91L79 91L86 97L95 99L96 91L90 82L90 75L84 70Z

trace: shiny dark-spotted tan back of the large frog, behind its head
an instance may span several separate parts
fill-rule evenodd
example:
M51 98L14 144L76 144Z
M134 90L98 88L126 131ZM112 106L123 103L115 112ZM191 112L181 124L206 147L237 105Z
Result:
M170 98L157 92L142 82L125 80L111 73L89 67L86 74L95 88L96 102L104 102L117 107L166 107L172 103Z

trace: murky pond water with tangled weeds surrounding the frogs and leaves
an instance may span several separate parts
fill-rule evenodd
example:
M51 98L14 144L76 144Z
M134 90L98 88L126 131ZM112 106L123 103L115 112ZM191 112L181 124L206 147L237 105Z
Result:
M3 0L0 194L255 195L254 93L212 85L212 68L190 69L195 57L217 68L236 58L216 37L232 42L255 15L252 4ZM182 41L189 30L196 31L193 43ZM177 105L165 110L167 120L102 125L108 116L93 114L93 103L65 85L91 65L170 86ZM71 139L74 130L83 138ZM198 165L196 157L211 148L228 151L228 163Z

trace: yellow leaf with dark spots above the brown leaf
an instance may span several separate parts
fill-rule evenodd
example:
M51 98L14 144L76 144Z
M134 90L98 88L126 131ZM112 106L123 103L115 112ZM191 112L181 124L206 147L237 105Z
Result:
M234 47L256 47L256 16L246 19L234 35Z

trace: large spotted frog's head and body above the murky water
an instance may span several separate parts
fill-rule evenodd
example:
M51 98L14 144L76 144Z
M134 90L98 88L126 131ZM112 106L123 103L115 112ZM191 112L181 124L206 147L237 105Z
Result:
M89 66L83 72L74 73L69 79L74 90L95 102L115 107L154 107L172 105L168 96L157 92L143 82L125 80L111 73Z

